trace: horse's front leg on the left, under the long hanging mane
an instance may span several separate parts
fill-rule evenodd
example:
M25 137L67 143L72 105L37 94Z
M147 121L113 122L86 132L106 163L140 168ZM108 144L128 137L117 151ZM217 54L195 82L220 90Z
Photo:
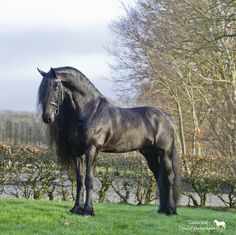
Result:
M82 155L75 159L75 166L76 166L76 201L74 207L70 210L70 212L83 215L85 155Z

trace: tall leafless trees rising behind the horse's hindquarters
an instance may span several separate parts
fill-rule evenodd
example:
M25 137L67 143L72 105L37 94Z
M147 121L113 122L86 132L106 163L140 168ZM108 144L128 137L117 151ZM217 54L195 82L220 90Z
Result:
M235 161L235 7L233 0L138 0L111 26L115 81L128 83L139 103L172 114L182 156Z

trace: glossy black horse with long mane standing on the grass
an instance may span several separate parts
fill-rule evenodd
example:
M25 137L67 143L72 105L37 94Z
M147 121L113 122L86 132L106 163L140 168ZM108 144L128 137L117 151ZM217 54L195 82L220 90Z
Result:
M157 108L118 108L110 104L86 76L74 68L39 72L43 80L38 103L42 119L49 125L51 143L61 163L74 162L76 166L76 201L70 211L94 215L93 170L98 152L138 150L157 180L159 213L176 214L180 177L175 127L170 117Z

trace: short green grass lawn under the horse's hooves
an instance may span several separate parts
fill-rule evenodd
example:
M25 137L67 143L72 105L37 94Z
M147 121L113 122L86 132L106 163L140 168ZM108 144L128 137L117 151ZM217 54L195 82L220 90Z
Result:
M235 210L182 207L177 216L167 217L157 215L156 206L102 203L95 204L95 217L82 217L68 213L72 205L0 199L0 234L236 234ZM214 219L225 221L226 230L216 229Z

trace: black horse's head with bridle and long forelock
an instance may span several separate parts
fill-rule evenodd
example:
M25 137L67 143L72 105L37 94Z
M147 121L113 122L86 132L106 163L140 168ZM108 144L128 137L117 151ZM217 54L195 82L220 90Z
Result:
M48 73L40 69L38 71L43 76L39 87L38 103L42 109L43 121L50 124L54 122L59 114L59 108L64 98L63 86L54 69L51 69Z

